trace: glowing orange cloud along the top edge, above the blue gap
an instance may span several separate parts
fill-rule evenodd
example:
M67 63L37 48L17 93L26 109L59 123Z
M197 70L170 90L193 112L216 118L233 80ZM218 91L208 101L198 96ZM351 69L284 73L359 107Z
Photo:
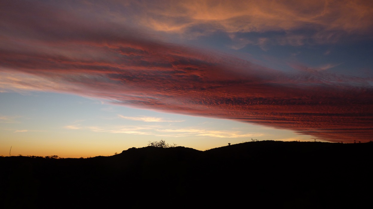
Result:
M145 1L137 6L146 8L142 25L174 33L200 26L207 28L206 33L312 29L318 31L314 38L326 39L335 30L372 33L373 24L371 1L358 0Z

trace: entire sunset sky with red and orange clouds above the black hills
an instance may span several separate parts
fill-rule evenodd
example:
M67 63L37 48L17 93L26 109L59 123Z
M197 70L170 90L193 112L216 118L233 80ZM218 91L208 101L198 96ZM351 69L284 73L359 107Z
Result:
M0 155L368 142L372 20L369 0L3 0Z

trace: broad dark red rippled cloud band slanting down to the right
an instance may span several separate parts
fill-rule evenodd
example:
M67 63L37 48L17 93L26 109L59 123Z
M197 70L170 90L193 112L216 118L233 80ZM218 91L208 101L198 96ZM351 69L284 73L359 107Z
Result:
M372 78L285 74L228 55L147 41L123 26L112 29L115 23L92 26L64 19L69 14L40 13L42 23L36 21L41 16L19 21L3 13L0 73L6 76L0 87L239 120L333 142L372 139ZM51 30L38 30L46 25Z

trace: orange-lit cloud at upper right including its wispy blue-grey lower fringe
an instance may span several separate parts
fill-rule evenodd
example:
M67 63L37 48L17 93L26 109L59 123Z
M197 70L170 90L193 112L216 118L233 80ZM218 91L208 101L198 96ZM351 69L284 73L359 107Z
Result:
M192 39L223 32L235 42L297 46L336 43L373 33L373 4L369 0L186 0L128 4L137 12L132 21ZM262 37L242 37L251 32ZM268 39L263 34L266 32L276 36Z

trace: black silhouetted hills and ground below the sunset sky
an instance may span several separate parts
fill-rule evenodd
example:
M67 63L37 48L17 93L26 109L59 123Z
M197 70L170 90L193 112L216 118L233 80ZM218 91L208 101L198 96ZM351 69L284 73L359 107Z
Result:
M373 143L258 141L0 157L0 208L372 208Z

